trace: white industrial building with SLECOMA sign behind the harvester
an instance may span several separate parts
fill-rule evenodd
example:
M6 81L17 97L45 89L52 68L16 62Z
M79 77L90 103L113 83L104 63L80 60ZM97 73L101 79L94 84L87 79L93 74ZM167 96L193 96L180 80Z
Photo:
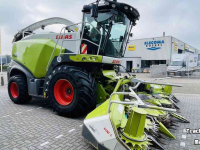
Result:
M151 65L169 64L173 54L193 53L200 50L172 36L130 40L122 58L122 65L127 71L150 68Z

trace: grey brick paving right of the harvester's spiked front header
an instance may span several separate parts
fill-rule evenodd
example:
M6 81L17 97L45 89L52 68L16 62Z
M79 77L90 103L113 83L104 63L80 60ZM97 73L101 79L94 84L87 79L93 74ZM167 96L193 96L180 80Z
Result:
M181 100L178 104L181 115L186 117L190 123L179 123L177 130L171 130L176 140L164 140L167 150L198 150L200 145L194 145L194 139L200 140L200 134L187 134L186 129L200 129L200 95L198 94L176 94ZM181 146L182 145L182 146Z

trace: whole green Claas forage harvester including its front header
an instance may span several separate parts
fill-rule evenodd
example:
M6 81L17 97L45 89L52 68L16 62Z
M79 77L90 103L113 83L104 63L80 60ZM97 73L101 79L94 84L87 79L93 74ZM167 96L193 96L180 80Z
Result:
M15 35L7 71L10 99L22 104L48 98L58 114L88 113L82 135L99 150L163 149L163 135L175 139L167 129L176 126L170 116L187 122L175 113L171 88L179 85L116 74L139 12L108 0L82 12L80 23L49 18ZM53 24L64 27L60 33L34 32Z

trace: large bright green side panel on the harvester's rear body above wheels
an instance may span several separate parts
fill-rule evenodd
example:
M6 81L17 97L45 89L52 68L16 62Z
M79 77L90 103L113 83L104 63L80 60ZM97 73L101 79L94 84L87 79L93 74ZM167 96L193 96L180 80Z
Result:
M55 44L49 39L19 41L13 45L12 59L25 66L36 78L45 77L46 67ZM57 45L52 59L60 54L60 48Z

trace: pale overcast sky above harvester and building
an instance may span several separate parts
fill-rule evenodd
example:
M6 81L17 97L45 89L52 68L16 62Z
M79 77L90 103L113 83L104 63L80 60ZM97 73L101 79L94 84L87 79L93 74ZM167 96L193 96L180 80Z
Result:
M133 39L159 37L163 32L200 49L200 0L118 0L137 8L140 20ZM2 53L10 54L18 30L37 21L62 17L80 22L82 7L94 0L0 0Z

